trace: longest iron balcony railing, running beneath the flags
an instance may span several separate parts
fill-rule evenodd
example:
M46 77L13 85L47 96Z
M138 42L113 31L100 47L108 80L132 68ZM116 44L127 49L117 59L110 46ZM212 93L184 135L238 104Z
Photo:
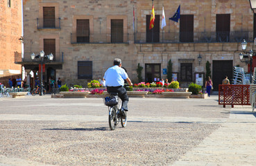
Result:
M135 43L214 43L253 42L253 32L184 32L184 33L135 33Z

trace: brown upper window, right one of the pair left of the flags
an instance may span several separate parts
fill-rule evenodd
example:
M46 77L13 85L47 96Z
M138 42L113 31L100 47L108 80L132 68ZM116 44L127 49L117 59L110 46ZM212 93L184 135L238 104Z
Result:
M123 19L111 19L111 43L123 42Z

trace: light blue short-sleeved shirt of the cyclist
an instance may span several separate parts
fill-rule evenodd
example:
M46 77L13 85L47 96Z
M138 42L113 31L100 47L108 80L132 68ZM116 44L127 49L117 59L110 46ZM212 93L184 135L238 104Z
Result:
M123 86L126 78L128 75L123 68L117 65L112 66L105 72L105 86Z

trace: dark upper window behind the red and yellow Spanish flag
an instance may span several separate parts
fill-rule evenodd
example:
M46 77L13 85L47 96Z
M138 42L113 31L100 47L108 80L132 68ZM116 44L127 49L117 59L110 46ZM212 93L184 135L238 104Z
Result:
M151 15L146 15L146 42L159 42L160 39L160 15L155 15L154 28L149 30Z

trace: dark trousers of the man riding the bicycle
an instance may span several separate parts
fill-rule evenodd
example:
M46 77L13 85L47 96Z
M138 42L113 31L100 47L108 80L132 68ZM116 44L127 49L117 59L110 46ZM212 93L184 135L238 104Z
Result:
M121 98L123 104L122 107L124 111L128 111L128 95L126 93L126 89L123 86L107 86L108 93L118 93L119 98Z

